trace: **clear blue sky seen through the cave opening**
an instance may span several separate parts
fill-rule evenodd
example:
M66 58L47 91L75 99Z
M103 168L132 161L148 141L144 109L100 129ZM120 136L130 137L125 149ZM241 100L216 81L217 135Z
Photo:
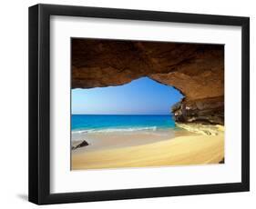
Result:
M148 77L126 85L72 90L72 114L170 114L183 96Z

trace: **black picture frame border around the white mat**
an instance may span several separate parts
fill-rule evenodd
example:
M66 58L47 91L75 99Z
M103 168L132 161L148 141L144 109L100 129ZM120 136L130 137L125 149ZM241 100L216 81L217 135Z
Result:
M241 183L50 194L50 16L241 26ZM238 136L239 137L239 136ZM70 5L29 7L29 201L65 204L250 190L250 18Z

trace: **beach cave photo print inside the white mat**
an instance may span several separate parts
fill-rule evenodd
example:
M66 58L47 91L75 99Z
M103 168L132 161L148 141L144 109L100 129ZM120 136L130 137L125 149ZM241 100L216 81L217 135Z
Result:
M71 170L224 163L224 45L71 38Z

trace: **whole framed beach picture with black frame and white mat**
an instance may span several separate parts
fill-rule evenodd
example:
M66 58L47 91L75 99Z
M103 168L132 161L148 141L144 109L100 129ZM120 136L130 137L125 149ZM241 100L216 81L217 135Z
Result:
M29 7L30 202L250 190L250 18L180 12Z

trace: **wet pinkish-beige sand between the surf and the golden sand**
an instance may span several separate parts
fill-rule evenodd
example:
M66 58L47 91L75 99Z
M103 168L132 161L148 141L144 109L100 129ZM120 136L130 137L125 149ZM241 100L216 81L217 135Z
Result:
M179 135L190 134L184 129L159 129L159 130L139 130L128 132L95 132L72 134L72 147L76 147L83 141L87 146L73 150L73 152L92 152L106 150L109 148L122 148L137 146L141 144L151 144L175 138Z

